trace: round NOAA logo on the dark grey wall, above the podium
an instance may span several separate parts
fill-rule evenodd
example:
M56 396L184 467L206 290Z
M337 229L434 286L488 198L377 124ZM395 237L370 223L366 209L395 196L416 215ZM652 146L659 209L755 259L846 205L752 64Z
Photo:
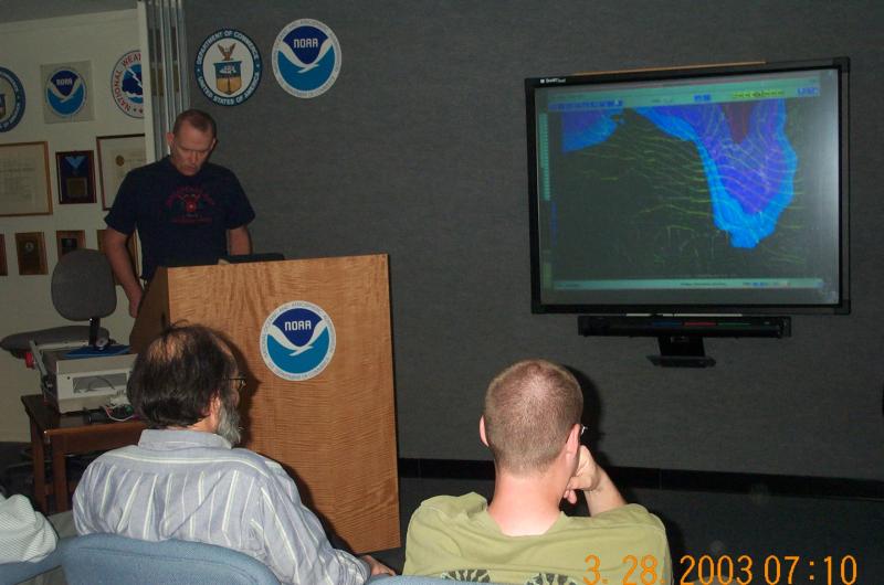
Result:
M295 97L316 97L335 84L340 73L340 43L318 20L290 22L273 43L273 74Z

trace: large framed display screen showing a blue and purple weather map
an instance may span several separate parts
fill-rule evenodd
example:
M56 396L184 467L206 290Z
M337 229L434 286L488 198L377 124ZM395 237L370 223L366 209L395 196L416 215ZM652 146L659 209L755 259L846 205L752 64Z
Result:
M848 60L526 79L535 312L846 312Z

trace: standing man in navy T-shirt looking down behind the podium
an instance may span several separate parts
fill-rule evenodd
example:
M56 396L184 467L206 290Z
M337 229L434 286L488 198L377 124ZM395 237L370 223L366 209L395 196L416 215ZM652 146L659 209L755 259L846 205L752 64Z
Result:
M252 252L246 226L255 212L236 177L208 162L215 136L214 120L204 111L179 114L166 135L170 155L129 172L105 217L105 254L126 291L133 317L144 295L126 249L136 230L145 283L157 266L213 264L228 254Z

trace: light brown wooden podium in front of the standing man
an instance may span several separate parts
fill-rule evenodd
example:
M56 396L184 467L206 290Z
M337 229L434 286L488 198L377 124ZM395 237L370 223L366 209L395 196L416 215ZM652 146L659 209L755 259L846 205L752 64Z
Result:
M169 323L221 331L248 384L244 447L282 464L357 553L400 546L390 292L386 255L158 268L130 336L140 352ZM315 377L280 377L262 327L283 305L320 307L332 360Z

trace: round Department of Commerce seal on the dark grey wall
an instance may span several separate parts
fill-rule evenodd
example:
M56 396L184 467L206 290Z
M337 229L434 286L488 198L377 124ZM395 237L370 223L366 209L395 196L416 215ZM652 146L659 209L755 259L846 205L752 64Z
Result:
M206 97L219 106L238 106L261 83L261 53L245 34L221 29L202 42L193 68Z

